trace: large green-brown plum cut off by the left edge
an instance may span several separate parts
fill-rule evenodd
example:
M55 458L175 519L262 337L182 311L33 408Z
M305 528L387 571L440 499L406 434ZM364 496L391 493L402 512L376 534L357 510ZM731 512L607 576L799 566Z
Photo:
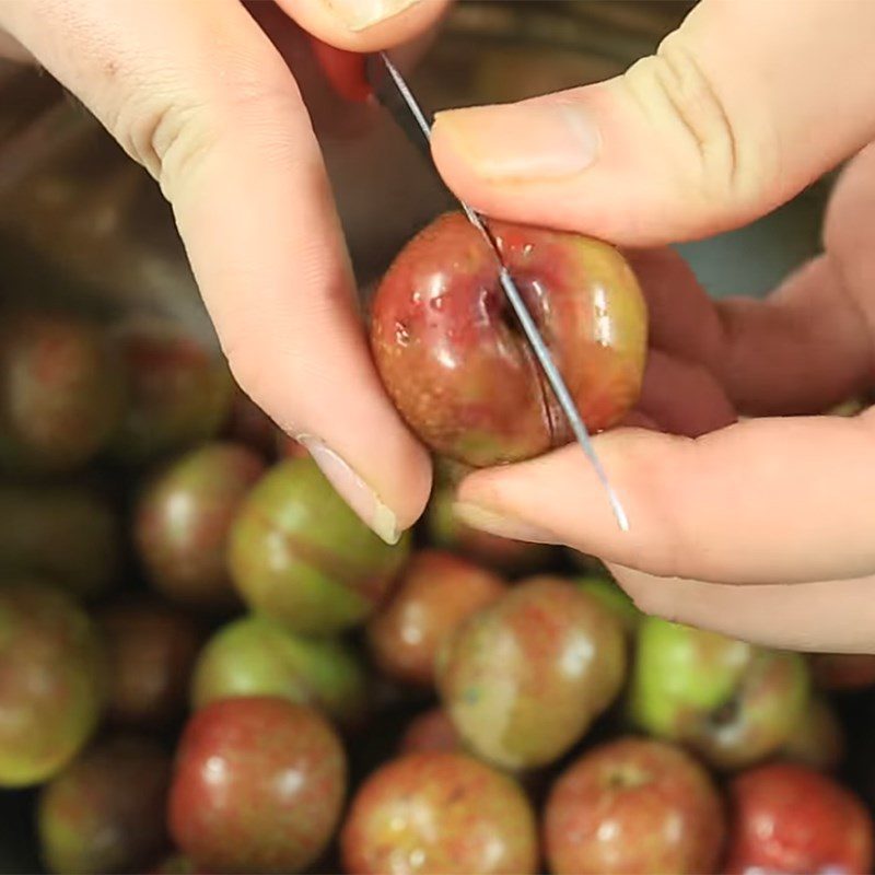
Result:
M37 582L0 586L0 786L62 769L97 725L105 688L96 630L68 595Z

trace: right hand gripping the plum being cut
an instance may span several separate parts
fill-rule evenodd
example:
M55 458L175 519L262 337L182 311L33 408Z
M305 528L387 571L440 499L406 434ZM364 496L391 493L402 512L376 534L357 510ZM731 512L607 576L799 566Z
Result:
M873 28L867 0L704 0L623 77L439 116L435 159L472 206L633 247L739 225L863 150L824 254L765 302L712 303L676 256L630 253L655 348L640 412L675 433L595 439L629 534L575 446L468 477L467 522L602 557L649 612L875 652L875 410L814 416L873 385Z

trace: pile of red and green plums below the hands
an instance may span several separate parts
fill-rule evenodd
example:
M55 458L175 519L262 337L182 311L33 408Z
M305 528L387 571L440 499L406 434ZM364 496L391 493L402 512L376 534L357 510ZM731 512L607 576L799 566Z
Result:
M49 872L872 871L875 657L646 617L451 465L388 546L178 325L4 313L0 469L0 812Z

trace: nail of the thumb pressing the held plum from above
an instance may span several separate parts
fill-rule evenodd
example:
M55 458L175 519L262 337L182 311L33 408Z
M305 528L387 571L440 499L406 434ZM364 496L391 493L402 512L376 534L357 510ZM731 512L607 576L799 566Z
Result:
M582 106L552 101L439 113L438 131L480 176L500 180L573 176L595 161L599 145Z

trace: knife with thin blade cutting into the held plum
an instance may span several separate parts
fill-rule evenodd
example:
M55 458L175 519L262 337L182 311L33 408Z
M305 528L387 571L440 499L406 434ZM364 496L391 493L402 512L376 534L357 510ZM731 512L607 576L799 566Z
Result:
M388 110L396 124L405 131L408 139L419 148L429 161L431 161L431 124L398 68L392 62L385 51L381 51L368 58L365 72L376 100ZM483 235L489 247L492 249L499 264L499 282L501 283L502 291L516 314L516 318L520 322L526 339L532 346L535 358L538 360L547 377L547 382L550 384L550 388L568 419L574 438L586 455L586 458L590 459L598 480L605 489L617 525L622 532L628 532L629 518L620 503L619 495L610 485L607 472L593 447L586 424L578 411L574 399L571 397L565 381L553 361L535 319L528 312L528 307L526 306L520 289L504 265L501 252L489 231L489 226L482 217L467 203L459 200L459 206L465 211L468 221Z

